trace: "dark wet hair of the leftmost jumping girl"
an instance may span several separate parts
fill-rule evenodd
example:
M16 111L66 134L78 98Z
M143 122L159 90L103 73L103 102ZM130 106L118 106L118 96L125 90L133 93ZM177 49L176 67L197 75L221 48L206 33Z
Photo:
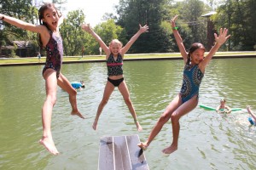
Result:
M55 8L54 3L44 3L44 5L43 5L41 8L39 8L39 10L38 10L39 24L40 24L40 25L43 25L43 26L46 26L46 28L47 28L48 30L49 30L49 27L47 26L47 23L43 21L43 19L44 19L44 11L45 11L46 9L52 8L52 7ZM57 11L57 14L60 16L61 14L58 13L57 8L55 8L55 9L56 9L56 11ZM41 40L41 37L40 37L40 34L39 34L39 33L38 33L38 46L39 46L40 48L43 48L43 42L42 42L42 40Z

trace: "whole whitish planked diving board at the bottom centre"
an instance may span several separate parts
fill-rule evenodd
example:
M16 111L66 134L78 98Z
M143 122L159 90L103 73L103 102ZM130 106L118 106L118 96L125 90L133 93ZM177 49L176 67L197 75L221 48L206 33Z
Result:
M102 137L98 170L149 170L137 134Z

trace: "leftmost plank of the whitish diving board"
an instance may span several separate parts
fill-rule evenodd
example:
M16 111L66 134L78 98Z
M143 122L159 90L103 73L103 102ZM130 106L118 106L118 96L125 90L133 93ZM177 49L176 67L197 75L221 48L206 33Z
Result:
M99 170L113 170L113 137L104 137L100 141Z

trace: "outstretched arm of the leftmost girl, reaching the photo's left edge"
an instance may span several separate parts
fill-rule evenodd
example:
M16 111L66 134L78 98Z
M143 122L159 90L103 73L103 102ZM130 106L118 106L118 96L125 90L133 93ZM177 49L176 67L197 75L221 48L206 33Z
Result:
M8 22L10 25L17 26L23 30L27 31L33 31L38 33L43 33L44 31L47 31L45 26L41 25L33 25L30 23L27 23L23 20L15 19L14 17L10 17L4 14L0 14L0 20L3 20L5 22Z

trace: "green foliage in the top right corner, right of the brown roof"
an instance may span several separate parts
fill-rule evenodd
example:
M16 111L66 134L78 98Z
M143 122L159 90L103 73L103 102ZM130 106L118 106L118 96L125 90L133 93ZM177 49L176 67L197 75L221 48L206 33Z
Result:
M230 50L255 50L256 44L256 2L255 0L228 0L218 8L215 15L216 29L226 27L231 37Z

